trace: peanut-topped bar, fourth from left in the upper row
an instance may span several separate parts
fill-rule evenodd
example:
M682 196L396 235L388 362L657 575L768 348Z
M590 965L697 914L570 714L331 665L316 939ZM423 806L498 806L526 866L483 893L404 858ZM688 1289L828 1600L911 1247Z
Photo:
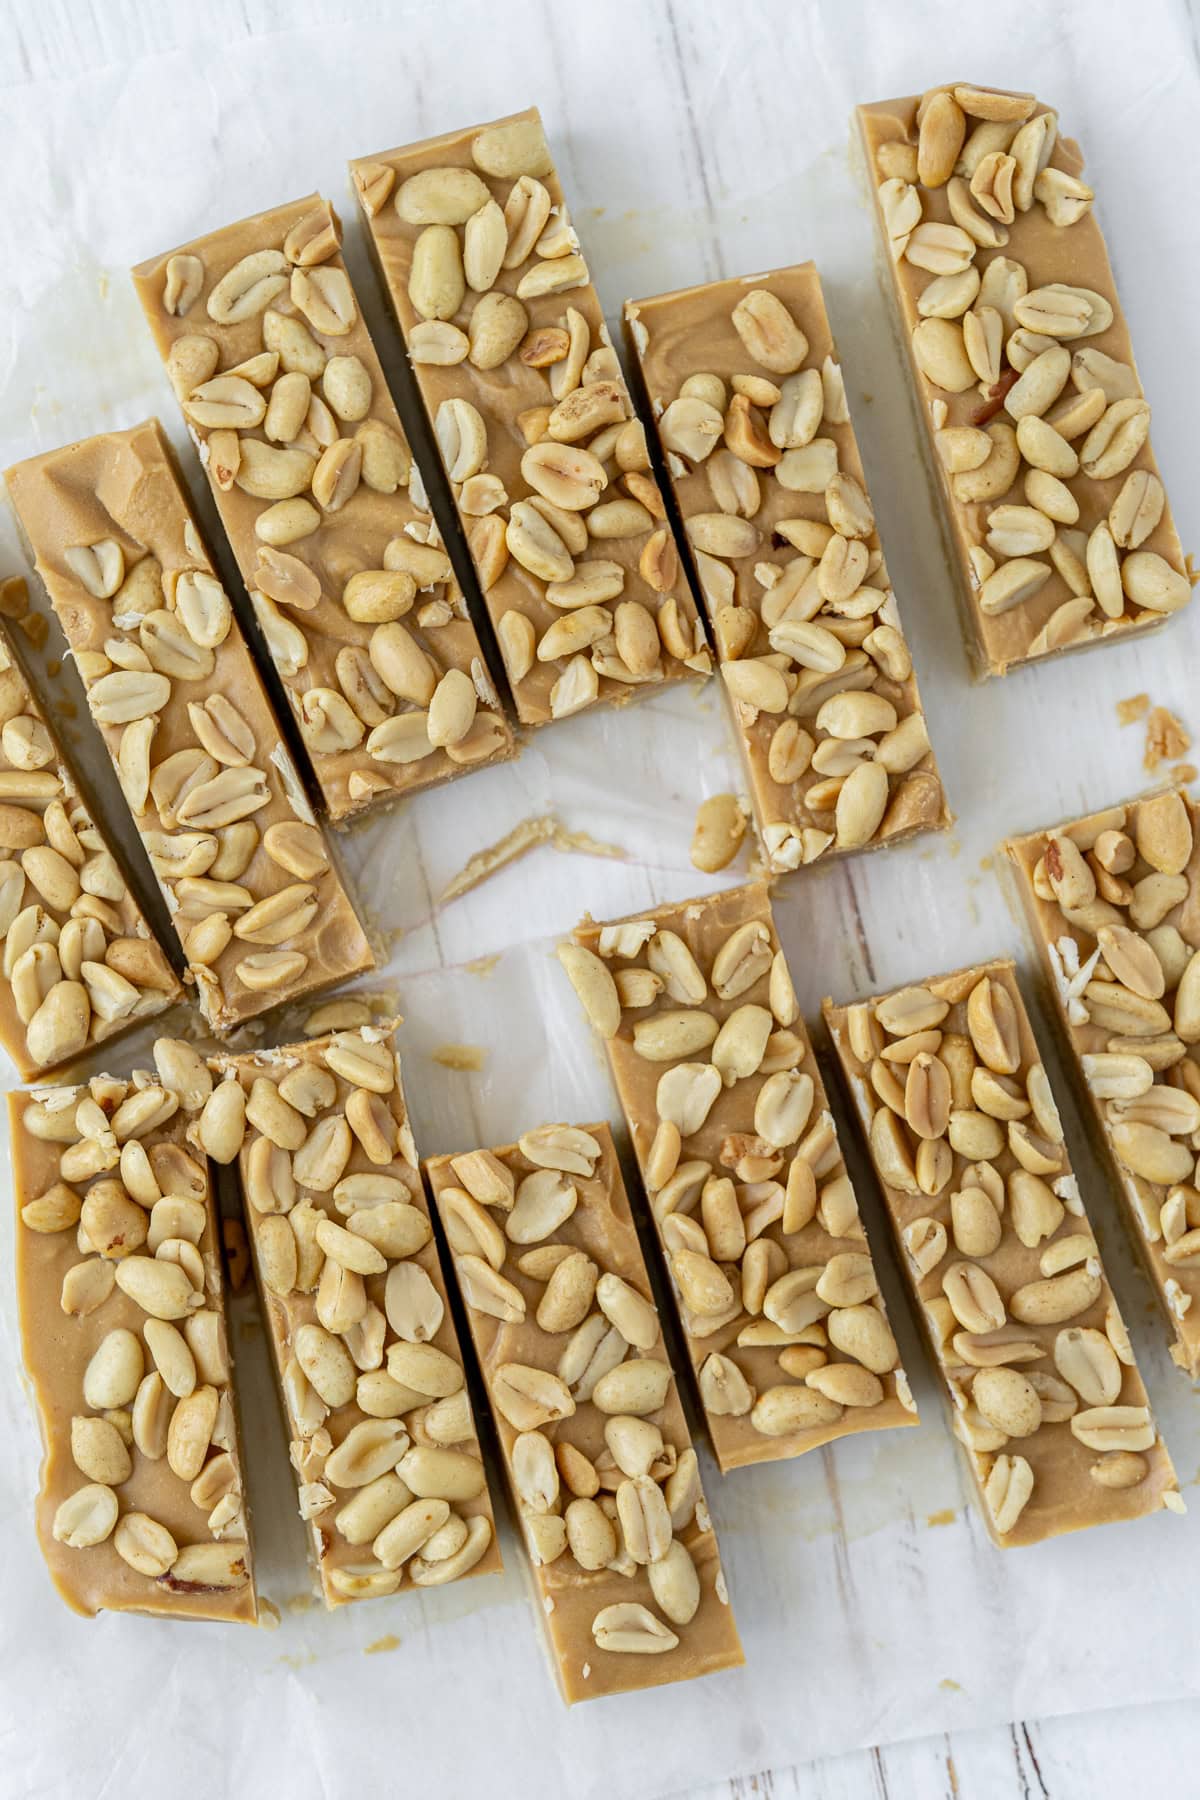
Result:
M536 108L351 175L524 724L707 675Z

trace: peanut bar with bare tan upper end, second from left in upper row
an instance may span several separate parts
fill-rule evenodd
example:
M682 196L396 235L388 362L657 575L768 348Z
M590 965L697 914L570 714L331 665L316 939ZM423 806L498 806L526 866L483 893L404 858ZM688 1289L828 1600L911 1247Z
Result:
M205 1021L374 968L158 421L7 482Z

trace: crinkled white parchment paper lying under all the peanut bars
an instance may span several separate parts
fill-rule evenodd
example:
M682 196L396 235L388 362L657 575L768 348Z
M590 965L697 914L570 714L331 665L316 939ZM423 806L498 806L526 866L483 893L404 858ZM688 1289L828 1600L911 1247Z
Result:
M1142 733L1117 727L1117 698L1146 689L1200 727L1200 608L1142 644L968 686L847 160L847 115L855 99L955 77L1034 86L1060 106L1099 193L1180 531L1200 545L1200 79L1186 7L1069 0L1002 14L932 0L457 0L344 4L326 14L315 23L309 5L284 20L266 4L130 4L104 9L101 23L99 5L70 0L0 5L4 461L158 410L200 493L128 265L322 187L347 216L351 265L394 356L345 160L536 101L612 319L626 295L808 256L826 277L959 823L934 844L779 889L810 1021L829 990L867 992L1004 950L1027 965L988 859L1007 830L1142 783ZM18 567L7 517L0 529L4 563ZM552 727L518 763L428 794L349 839L351 875L390 954L381 985L398 990L407 1015L401 1044L423 1150L507 1139L543 1118L615 1118L551 958L554 938L585 909L613 916L714 886L691 868L687 844L698 799L730 787L738 774L716 697L676 691ZM549 814L624 859L547 844L437 907L475 850ZM741 875L734 868L721 880ZM435 1062L448 1042L482 1046L482 1071ZM1061 1078L1058 1091L1065 1100ZM243 1408L261 1588L281 1611L279 1629L67 1613L32 1537L38 1442L4 1278L0 1791L624 1800L905 1735L1195 1696L1196 1397L1166 1357L1078 1123L1070 1141L1189 1517L995 1552L885 1258L921 1427L723 1481L709 1469L747 1670L572 1714L543 1667L507 1526L502 1579L335 1616L308 1604L252 1307L239 1334ZM880 1251L865 1181L864 1193ZM11 1211L5 1193L5 1267ZM380 1640L376 1654L363 1654Z

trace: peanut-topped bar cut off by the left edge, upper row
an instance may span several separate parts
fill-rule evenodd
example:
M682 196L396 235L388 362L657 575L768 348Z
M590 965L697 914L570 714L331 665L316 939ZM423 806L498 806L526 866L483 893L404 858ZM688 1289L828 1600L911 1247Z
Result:
M25 610L25 583L5 581ZM184 988L92 819L0 623L0 1044L32 1082Z

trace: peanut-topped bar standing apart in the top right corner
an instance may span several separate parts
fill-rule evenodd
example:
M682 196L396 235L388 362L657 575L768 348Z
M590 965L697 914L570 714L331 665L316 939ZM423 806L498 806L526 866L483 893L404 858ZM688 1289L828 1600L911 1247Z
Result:
M1078 144L968 85L858 128L977 671L1160 625L1191 583Z

